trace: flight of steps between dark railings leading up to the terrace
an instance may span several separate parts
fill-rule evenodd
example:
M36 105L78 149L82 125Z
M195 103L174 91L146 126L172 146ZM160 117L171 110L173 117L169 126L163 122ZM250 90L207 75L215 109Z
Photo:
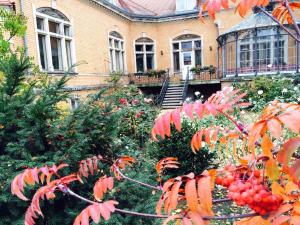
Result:
M182 106L183 85L169 85L162 103L162 109L175 109Z

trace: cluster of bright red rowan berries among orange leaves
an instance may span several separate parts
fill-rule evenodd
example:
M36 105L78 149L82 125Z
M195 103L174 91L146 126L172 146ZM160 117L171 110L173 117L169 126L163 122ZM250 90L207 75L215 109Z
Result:
M216 184L228 188L228 198L234 200L237 205L248 205L260 215L279 208L283 199L272 194L264 185L260 170L239 171L234 166L224 169L224 176L217 176Z

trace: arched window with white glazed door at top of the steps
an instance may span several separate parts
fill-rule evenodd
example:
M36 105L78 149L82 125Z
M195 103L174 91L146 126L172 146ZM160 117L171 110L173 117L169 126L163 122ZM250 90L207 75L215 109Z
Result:
M194 34L184 34L173 39L173 67L174 71L181 71L184 67L202 66L201 38Z

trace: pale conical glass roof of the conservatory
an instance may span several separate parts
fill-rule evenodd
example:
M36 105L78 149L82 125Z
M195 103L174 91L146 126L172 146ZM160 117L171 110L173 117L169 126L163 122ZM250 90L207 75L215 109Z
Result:
M300 22L300 20L297 22ZM270 17L265 15L264 13L259 12L259 13L252 14L248 18L244 19L242 22L231 27L229 30L225 31L222 35L233 33L236 31L249 30L249 29L261 28L261 27L270 27L270 26L278 26L278 24L274 22Z

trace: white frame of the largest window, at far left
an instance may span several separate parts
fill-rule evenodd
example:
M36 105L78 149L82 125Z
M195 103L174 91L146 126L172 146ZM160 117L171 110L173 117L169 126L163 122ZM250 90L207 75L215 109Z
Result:
M37 27L37 18L43 19L43 25L44 30L40 30ZM55 22L59 24L59 33L53 33L49 31L49 21ZM40 65L40 70L44 72L64 72L68 71L69 65L67 61L67 50L65 43L66 41L70 41L70 51L71 51L71 65L75 63L75 43L74 43L74 37L73 37L73 25L69 21L65 21L62 19L58 19L52 16L49 16L47 14L43 14L40 12L37 12L34 9L34 22L35 22L35 32L36 32L36 46L37 46L37 55ZM69 36L64 34L64 27L69 27ZM43 69L41 64L41 58L40 58L40 48L39 48L39 40L38 36L44 35L45 36L45 44L46 44L46 65L48 68ZM51 52L51 42L50 38L55 37L61 40L61 54L62 54L62 70L54 70L53 62L52 62L52 52ZM76 72L76 68L73 69L74 72Z

